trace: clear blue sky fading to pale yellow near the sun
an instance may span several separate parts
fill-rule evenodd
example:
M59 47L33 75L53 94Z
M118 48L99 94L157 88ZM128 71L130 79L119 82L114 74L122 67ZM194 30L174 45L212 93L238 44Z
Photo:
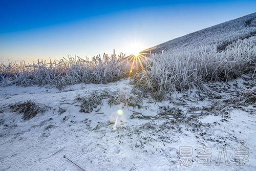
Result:
M0 0L0 61L131 53L256 12L256 1Z

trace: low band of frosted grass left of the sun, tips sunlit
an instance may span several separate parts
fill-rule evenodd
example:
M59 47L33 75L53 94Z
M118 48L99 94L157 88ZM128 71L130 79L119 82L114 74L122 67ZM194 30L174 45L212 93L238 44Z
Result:
M103 54L92 60L68 57L61 60L39 61L27 65L25 62L0 65L0 86L18 84L22 86L51 84L57 87L75 83L108 83L127 74L124 55Z

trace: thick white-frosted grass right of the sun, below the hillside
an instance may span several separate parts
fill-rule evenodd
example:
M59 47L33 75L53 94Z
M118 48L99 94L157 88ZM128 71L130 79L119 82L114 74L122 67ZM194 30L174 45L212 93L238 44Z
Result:
M256 36L237 40L223 51L216 45L186 47L153 54L151 59L135 75L135 84L154 94L183 91L204 81L226 81L255 72Z

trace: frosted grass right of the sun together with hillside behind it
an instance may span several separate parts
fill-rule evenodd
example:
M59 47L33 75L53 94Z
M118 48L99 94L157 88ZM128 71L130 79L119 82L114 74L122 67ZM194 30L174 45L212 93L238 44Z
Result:
M228 80L256 69L256 13L145 50L151 55L135 84L161 100L205 81Z

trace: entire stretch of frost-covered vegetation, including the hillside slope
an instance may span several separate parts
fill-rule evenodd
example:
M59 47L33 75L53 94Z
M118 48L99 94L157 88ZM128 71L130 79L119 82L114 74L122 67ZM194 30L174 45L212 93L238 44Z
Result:
M144 70L130 73L132 63L122 53L92 60L79 57L0 65L0 86L108 83L129 76L143 90L162 100L170 91L200 87L205 81L227 81L245 73L256 76L256 13L212 26L155 47L143 62ZM160 53L160 51L162 53ZM145 51L146 52L146 51ZM138 68L138 66L133 66ZM140 66L139 66L140 67Z

